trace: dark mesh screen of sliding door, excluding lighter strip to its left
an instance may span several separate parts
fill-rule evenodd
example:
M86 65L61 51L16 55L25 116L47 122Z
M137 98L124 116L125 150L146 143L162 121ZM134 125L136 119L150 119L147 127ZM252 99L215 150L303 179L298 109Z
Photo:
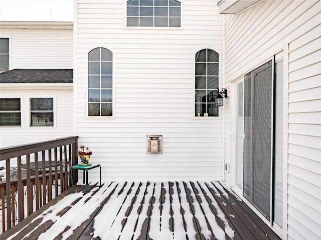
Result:
M253 203L270 216L272 65L253 79Z

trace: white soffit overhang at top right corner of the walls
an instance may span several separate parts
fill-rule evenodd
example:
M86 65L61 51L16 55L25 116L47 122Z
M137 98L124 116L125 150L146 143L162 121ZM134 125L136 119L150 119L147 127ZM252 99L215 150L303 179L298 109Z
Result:
M219 13L237 13L261 0L220 0L218 3Z

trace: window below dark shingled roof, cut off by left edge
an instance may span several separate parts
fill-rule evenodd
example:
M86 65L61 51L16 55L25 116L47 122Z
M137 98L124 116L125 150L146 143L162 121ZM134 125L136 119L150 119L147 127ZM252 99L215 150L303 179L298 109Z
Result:
M0 126L21 126L20 98L0 98Z

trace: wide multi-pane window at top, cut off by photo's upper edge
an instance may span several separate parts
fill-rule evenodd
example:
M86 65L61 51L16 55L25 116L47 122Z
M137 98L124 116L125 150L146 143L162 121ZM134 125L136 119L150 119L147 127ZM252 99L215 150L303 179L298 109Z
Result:
M180 27L181 2L129 0L127 1L127 26Z

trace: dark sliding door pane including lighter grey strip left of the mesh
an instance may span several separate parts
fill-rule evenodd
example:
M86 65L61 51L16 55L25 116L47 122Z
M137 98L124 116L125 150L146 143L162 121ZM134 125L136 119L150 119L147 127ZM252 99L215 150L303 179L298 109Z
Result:
M270 218L272 61L245 76L244 196Z

